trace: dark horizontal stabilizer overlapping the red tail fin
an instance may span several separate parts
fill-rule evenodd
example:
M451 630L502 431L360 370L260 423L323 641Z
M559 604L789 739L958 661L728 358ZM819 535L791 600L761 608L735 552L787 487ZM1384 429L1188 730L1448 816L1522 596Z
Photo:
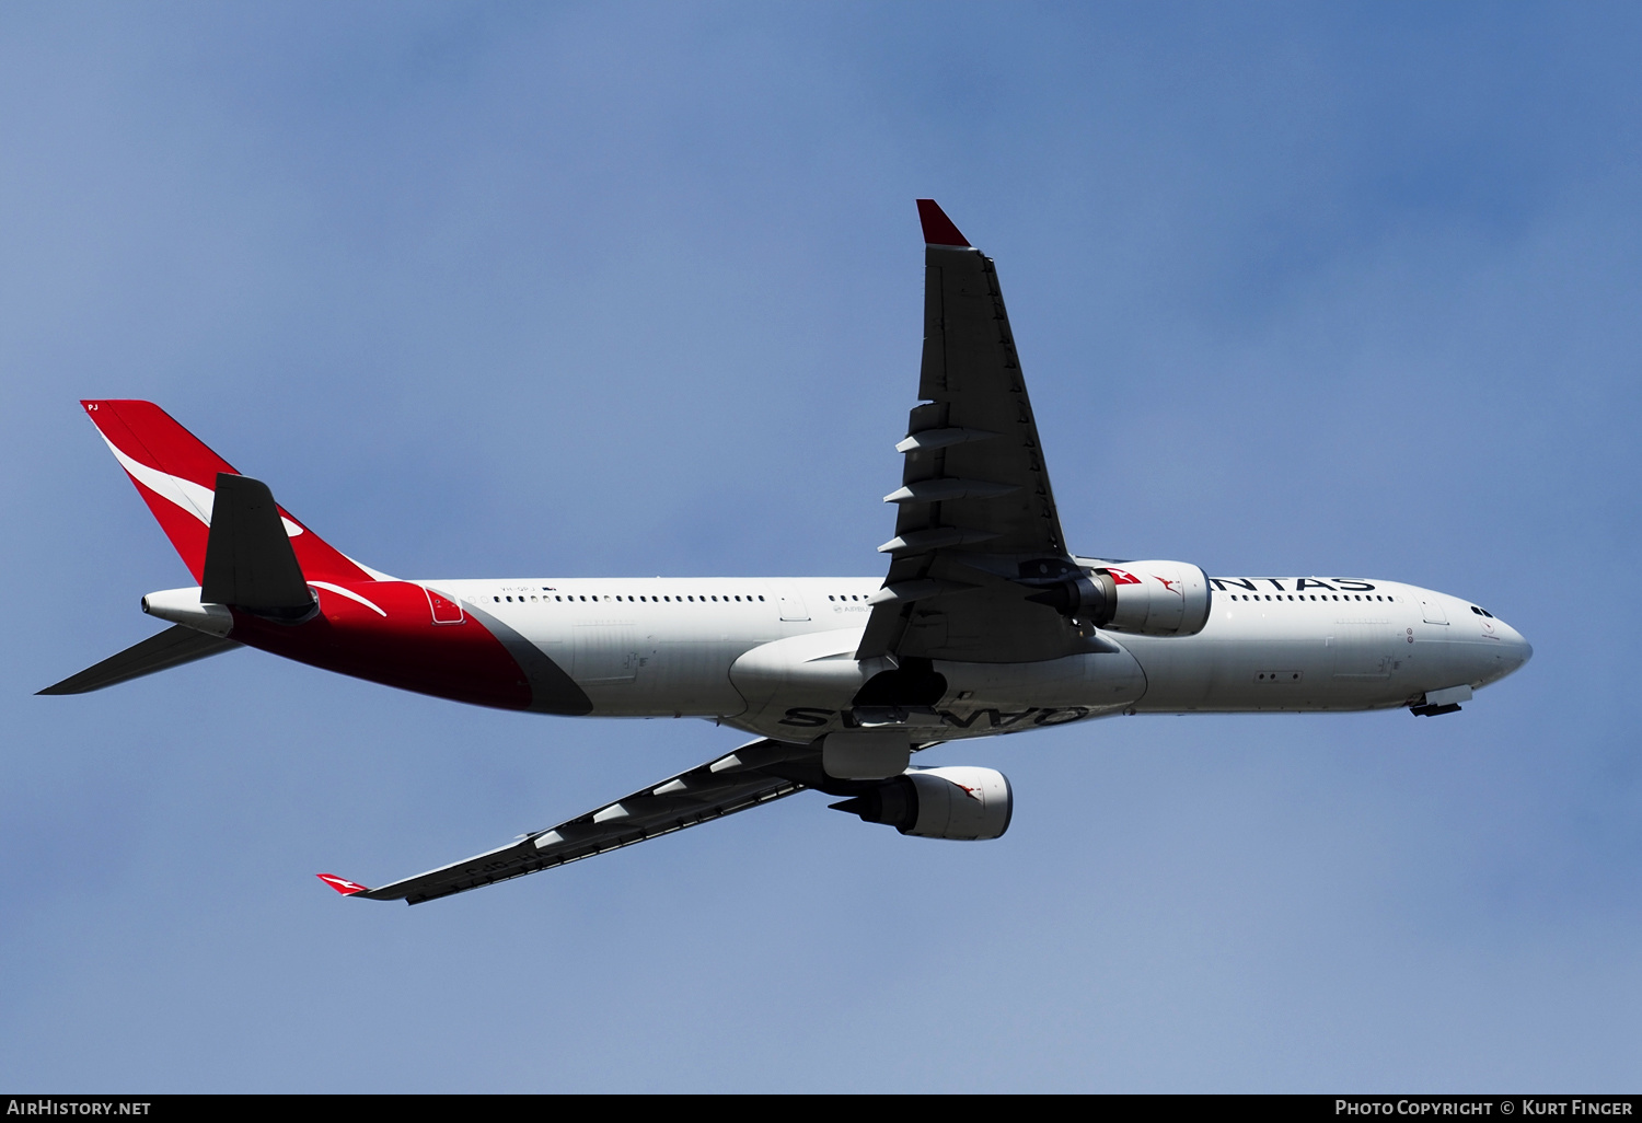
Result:
M250 612L304 616L314 594L297 565L274 493L261 479L217 474L200 601Z

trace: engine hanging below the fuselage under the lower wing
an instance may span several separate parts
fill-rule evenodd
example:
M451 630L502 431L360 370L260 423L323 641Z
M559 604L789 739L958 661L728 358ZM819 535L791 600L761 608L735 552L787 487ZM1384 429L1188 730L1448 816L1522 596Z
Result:
M1010 829L1015 796L993 768L908 768L834 809L926 839L995 839Z

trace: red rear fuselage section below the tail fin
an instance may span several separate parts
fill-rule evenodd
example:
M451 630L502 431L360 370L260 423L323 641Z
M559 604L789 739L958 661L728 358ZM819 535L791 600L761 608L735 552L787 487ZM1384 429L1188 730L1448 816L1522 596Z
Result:
M419 694L476 706L525 709L530 685L507 649L476 619L435 624L427 593L409 581L335 584L376 604L317 589L319 614L276 624L233 609L233 639L299 663L365 678Z

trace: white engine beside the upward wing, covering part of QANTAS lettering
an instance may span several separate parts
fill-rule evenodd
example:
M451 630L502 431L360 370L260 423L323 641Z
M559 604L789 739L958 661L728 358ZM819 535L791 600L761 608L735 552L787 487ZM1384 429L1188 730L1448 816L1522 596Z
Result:
M1209 622L1209 576L1187 562L1095 562L1048 580L1026 565L1021 583L1041 588L1026 599L1113 632L1197 635Z

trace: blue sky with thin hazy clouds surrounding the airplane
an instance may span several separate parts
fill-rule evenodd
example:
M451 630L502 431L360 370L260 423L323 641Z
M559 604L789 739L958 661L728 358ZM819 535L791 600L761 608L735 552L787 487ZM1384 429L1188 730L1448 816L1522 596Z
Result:
M1635 1089L1634 5L0 11L0 1084ZM76 399L407 576L870 575L943 202L1072 542L1471 598L1456 717L941 749L406 910L734 744L235 652L33 691L186 581Z

